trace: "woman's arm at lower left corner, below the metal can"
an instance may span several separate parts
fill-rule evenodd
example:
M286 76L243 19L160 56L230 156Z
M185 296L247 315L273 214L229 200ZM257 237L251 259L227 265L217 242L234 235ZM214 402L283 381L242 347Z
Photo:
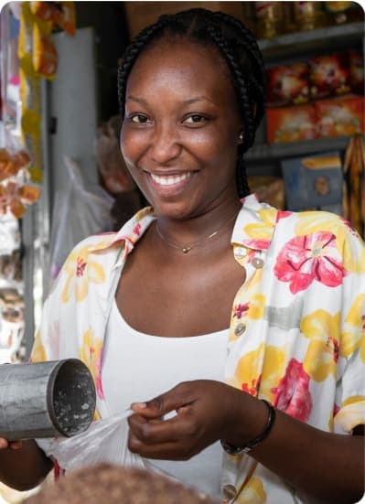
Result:
M24 491L37 487L48 475L53 462L33 440L7 443L0 438L0 480Z

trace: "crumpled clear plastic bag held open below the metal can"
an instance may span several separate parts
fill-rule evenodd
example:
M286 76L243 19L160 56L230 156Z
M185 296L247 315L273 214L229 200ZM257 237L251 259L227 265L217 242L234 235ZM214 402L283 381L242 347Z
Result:
M95 421L85 432L72 437L39 439L37 442L46 455L56 458L59 466L66 471L102 462L146 468L142 457L128 450L126 418L131 413L131 410L126 410Z

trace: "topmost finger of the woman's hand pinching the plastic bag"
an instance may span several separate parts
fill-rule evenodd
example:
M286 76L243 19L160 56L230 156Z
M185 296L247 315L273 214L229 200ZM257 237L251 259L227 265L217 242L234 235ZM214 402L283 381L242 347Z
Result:
M193 382L185 381L150 401L133 402L131 409L135 413L145 416L145 418L160 418L166 413L187 406L194 399Z

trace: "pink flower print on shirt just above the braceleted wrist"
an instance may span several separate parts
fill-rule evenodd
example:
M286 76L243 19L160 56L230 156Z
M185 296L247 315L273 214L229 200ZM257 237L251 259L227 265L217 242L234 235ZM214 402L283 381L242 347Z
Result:
M271 390L274 393L274 406L306 422L313 407L309 380L303 364L296 359L290 359L284 377L278 386Z

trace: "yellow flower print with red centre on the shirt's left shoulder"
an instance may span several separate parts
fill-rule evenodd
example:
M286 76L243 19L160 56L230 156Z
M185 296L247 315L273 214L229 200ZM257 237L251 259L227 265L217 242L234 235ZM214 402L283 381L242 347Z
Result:
M95 245L95 248L97 247L98 245ZM90 259L89 246L71 252L63 271L68 276L61 295L62 303L70 301L72 287L75 289L76 301L81 302L88 294L88 284L90 282L102 284L105 281L102 265Z

